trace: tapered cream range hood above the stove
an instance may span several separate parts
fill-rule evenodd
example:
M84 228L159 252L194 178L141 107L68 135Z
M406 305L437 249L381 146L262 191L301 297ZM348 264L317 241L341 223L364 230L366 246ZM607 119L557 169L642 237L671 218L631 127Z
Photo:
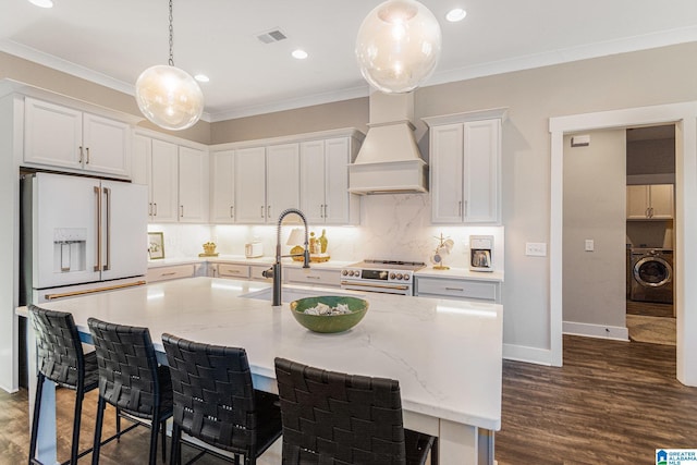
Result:
M424 193L428 169L414 138L414 94L370 94L370 122L348 166L353 194Z

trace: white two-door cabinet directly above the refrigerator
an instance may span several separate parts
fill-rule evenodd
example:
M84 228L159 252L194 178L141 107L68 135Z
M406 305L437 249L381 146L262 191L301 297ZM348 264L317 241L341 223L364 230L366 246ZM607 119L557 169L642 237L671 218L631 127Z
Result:
M24 110L25 163L131 174L129 124L30 97Z

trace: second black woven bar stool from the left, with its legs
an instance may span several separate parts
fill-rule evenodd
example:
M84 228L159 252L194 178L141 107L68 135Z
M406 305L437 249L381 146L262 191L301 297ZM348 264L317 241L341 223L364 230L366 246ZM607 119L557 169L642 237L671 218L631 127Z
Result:
M96 318L89 318L87 325L97 350L99 368L99 403L91 463L99 463L107 403L136 421L150 420L150 465L157 461L158 432L161 431L164 462L164 424L172 416L172 384L169 369L157 363L150 332L147 328L113 325Z

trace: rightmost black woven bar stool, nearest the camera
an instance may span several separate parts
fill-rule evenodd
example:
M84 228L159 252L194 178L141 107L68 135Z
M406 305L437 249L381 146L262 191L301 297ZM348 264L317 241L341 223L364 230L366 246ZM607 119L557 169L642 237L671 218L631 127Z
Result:
M404 429L396 380L276 358L283 464L425 464L436 438Z

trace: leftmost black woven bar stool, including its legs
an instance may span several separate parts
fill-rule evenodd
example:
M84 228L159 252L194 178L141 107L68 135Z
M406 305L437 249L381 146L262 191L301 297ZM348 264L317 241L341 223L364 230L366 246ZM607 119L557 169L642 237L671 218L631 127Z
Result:
M76 464L77 458L88 454L91 449L78 453L80 424L85 393L98 386L97 357L94 352L85 354L75 321L71 314L52 311L29 305L29 316L36 334L36 352L38 374L36 382L36 400L29 441L29 464L38 464L35 458L39 415L41 412L41 389L49 379L56 384L75 391L75 415L73 418L73 439L70 461L64 464Z

